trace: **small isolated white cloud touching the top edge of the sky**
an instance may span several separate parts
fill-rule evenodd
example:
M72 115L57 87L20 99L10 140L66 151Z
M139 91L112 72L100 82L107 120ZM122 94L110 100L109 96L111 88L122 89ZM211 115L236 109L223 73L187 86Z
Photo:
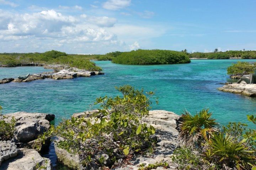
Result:
M103 3L102 7L107 10L119 10L129 6L131 0L108 0Z

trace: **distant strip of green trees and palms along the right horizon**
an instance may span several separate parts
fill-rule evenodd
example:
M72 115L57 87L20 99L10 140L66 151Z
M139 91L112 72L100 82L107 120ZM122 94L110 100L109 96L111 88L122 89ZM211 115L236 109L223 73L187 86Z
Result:
M229 59L229 58L256 58L256 51L226 51L226 52L193 52L190 58Z

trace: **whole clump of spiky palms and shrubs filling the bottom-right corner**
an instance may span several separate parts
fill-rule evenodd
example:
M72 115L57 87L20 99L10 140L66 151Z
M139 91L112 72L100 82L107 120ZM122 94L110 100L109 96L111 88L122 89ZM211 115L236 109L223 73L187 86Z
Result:
M246 124L229 123L213 131L211 129L217 123L210 117L211 114L205 109L195 115L185 112L181 116L178 130L183 143L191 143L191 138L195 136L202 140L193 142L189 149L181 148L174 152L172 160L179 169L256 169L256 130L246 128ZM256 123L254 115L248 115L247 118Z

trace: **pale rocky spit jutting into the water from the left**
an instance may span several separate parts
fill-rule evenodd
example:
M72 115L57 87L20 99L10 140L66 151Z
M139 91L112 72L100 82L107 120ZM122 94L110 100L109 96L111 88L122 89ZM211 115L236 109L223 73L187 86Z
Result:
M35 65L39 66L39 65ZM43 64L41 64L43 66ZM0 66L2 67L2 66ZM78 68L70 68L68 66L63 65L44 65L45 69L54 69L55 72L48 72L48 73L41 73L41 74L32 74L29 75L27 79L21 80L21 79L14 79L14 78L5 78L0 80L0 84L10 83L10 82L30 82L34 80L40 80L40 79L73 79L76 77L90 77L92 75L101 75L104 74L103 72L99 71L87 71L84 69L78 69Z

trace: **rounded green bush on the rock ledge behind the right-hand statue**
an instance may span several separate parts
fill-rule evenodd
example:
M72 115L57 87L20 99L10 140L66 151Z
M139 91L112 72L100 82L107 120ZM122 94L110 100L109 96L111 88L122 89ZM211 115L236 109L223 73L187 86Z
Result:
M246 74L254 73L256 63L237 62L228 67L227 71L230 76L243 76Z

